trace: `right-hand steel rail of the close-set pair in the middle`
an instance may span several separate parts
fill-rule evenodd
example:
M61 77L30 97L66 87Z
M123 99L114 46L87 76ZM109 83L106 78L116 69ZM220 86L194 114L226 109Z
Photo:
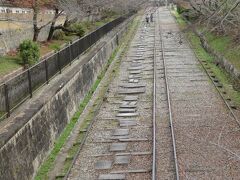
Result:
M159 13L158 13L158 19L160 20ZM165 76L165 84L166 84L166 92L167 92L169 121L170 121L172 145L173 145L173 155L174 155L174 163L175 163L175 173L176 173L176 180L179 180L180 177L179 177L177 148L176 148L175 132L174 132L174 125L173 125L173 117L172 117L172 106L171 106L170 90L169 90L169 83L168 83L167 67L166 67L166 61L165 61L165 51L164 51L163 35L162 35L162 29L161 29L160 23L159 23L159 34L160 34L160 39L161 39L161 50L162 50L162 59L163 59L163 66L164 66L164 76Z

